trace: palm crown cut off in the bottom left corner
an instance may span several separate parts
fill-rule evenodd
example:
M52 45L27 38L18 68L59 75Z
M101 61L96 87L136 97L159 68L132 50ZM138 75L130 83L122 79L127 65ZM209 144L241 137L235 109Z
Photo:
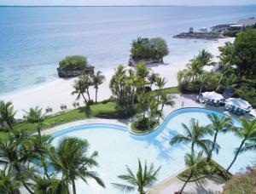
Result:
M20 178L15 175L9 168L0 170L0 193L2 194L19 194Z

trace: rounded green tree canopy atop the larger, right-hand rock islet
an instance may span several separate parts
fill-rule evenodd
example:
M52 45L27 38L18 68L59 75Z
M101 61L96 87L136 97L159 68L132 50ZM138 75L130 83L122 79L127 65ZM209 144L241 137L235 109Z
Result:
M139 59L161 60L168 53L166 41L161 37L138 37L131 43L131 54Z

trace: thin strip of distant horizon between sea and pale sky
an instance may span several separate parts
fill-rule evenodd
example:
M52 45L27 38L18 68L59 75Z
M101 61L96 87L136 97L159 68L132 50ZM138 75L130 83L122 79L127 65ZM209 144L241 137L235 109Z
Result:
M237 5L1 5L0 7L237 7L256 6L256 4Z

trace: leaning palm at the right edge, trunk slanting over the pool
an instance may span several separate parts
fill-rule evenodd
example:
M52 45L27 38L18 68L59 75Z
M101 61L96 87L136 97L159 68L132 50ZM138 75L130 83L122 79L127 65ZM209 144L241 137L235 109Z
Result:
M236 162L236 158L241 152L250 151L255 148L255 140L256 140L256 118L253 120L247 120L244 117L240 118L241 127L234 127L234 132L237 137L241 139L241 144L235 151L235 157L230 163L229 168L227 168L227 172Z

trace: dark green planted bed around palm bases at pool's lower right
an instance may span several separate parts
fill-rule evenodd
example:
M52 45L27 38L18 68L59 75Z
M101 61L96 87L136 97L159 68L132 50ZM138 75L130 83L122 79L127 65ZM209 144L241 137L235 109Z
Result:
M179 180L183 180L186 181L189 177L190 174L190 169L186 169L184 170L182 173L177 174L177 178ZM202 168L199 172L200 175L197 176L193 176L190 180L190 182L193 182L195 180L200 180L203 179L209 175L213 176L213 177L217 177L220 179L223 179L225 181L230 180L230 178L232 177L232 174L227 173L226 169L224 167L222 167L221 165L219 165L218 163L216 163L215 161L211 160L209 162L209 164L207 165L206 168Z

